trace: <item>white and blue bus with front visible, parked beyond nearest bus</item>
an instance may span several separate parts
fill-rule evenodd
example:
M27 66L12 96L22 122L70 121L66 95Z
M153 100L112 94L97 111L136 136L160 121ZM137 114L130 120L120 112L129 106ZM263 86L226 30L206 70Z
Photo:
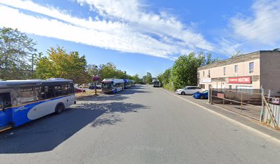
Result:
M123 79L104 79L102 81L102 92L104 94L115 94L124 90Z

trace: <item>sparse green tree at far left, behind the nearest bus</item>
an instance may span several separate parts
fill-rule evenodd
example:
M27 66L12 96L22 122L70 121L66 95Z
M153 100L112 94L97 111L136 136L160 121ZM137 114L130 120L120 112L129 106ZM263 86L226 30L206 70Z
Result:
M0 79L32 77L36 43L17 29L0 28Z

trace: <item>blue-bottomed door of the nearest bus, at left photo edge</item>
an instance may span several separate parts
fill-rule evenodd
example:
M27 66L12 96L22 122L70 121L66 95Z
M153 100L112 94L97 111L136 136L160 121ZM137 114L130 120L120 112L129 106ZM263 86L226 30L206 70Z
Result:
M1 127L12 123L12 106L10 92L0 92L0 131Z

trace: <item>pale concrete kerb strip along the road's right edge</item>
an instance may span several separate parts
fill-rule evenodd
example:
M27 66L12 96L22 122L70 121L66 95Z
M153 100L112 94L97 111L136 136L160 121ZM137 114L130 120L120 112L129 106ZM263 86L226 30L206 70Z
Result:
M241 122L238 122L238 121L236 121L236 120L233 120L232 118L228 118L228 117L226 117L225 115L222 115L222 114L220 114L220 113L218 113L218 112L216 112L216 111L213 111L213 110L211 110L211 109L209 109L209 108L207 108L207 107L203 107L202 105L198 105L198 104L196 104L195 102L191 102L190 100L187 100L187 99L185 99L185 98L182 98L182 97L180 97L180 96L178 96L178 95L176 95L176 94L173 94L172 92L169 92L169 91L167 91L167 90L164 90L163 88L161 88L161 90L163 90L163 91L165 91L165 92L167 92L167 93L169 93L169 94L172 94L173 96L176 96L176 97L178 97L178 98L181 98L181 99L183 99L183 100L185 100L185 101L187 101L187 102L190 102L190 103L193 104L193 105L196 105L196 106L198 106L198 107L201 107L202 109L205 109L206 111L209 111L210 113L213 113L213 114L215 114L215 115L218 115L218 116L220 116L221 118L223 118L224 120L228 120L229 122L231 122L231 123L233 123L233 124L242 126L243 128L247 129L248 131L252 131L253 133L257 133L258 135L261 135L262 137L264 137L264 139L267 139L267 140L273 141L273 142L275 142L275 143L278 143L279 146L280 146L280 139L277 139L277 138L275 138L275 137L272 137L271 135L268 135L268 134L266 134L266 133L263 133L263 132L261 132L261 131L258 131L257 129L252 128L252 127L250 127L250 126L248 126L248 125L246 125L246 124L242 124Z

